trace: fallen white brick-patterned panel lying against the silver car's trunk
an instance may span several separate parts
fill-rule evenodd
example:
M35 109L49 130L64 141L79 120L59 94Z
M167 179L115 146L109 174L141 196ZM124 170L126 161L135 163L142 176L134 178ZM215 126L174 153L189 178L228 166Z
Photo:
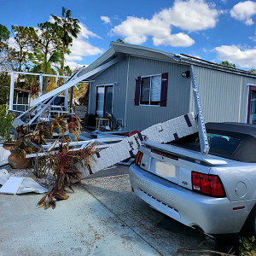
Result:
M80 165L79 168L83 176L86 177L108 166L113 166L119 161L135 156L143 141L150 140L155 143L170 143L177 138L188 136L197 131L195 113L188 113L164 123L152 125L146 130L127 137L120 143L115 143L94 154L90 160L89 170L84 165Z

